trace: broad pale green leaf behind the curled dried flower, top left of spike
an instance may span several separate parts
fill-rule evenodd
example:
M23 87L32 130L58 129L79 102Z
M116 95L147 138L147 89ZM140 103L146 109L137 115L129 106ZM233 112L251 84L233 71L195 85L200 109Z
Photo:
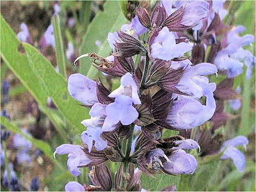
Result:
M127 22L124 14L122 13L119 4L113 1L105 2L103 6L104 11L99 11L90 23L86 34L83 37L80 54L98 52L102 57L106 57L111 52L111 48L107 42L108 33L121 28ZM102 42L99 47L95 41ZM93 78L97 75L97 69L90 65L88 58L80 60L79 72Z

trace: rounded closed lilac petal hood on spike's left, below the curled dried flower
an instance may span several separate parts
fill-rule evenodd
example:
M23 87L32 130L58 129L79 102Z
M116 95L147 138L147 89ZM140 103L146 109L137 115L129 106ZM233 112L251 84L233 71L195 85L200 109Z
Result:
M69 94L84 105L92 106L98 102L96 89L96 82L82 74L72 74L68 78Z

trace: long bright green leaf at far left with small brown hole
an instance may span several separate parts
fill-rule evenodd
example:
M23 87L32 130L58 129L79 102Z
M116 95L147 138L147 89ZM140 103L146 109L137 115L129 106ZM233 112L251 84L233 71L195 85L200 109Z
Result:
M63 133L59 122L55 121L49 109L47 109L48 97L53 100L65 121L69 123L70 131L74 132L76 130L77 133L80 133L85 130L80 122L89 117L88 109L79 106L79 103L69 96L67 82L63 76L58 74L51 63L33 46L20 43L2 17L1 34L4 34L1 36L1 56L3 60L33 95L39 107L50 118L58 131L60 133L62 131L62 137L65 138L65 135L67 137L67 133ZM25 49L26 54L18 52L19 46Z

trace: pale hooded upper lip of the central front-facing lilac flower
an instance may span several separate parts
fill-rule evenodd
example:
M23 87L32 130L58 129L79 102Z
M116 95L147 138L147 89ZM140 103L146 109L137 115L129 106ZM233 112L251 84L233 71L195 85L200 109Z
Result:
M121 85L116 90L111 92L108 97L116 98L121 94L131 95L132 102L135 105L141 105L141 101L138 95L138 85L130 73L126 73L121 77Z

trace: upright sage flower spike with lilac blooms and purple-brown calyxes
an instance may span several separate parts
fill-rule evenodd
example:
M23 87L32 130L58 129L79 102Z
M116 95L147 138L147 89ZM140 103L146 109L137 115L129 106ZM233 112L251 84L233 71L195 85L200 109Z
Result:
M75 177L83 167L91 167L93 186L71 181L65 186L66 191L141 191L142 172L193 174L197 160L188 150L200 147L181 133L210 119L213 122L213 116L218 116L218 87L207 76L217 74L218 69L228 77L242 73L243 63L231 62L235 58L249 58L248 63L253 63L253 56L242 50L253 38L239 37L241 27L230 30L223 25L223 2L163 1L151 11L142 6L136 11L131 23L108 34L113 50L109 57L86 53L75 60L90 57L99 71L120 78L120 86L113 90L82 74L69 76L71 97L90 108L91 118L81 122L86 127L81 134L82 145L63 144L54 155L68 154L68 170ZM217 40L221 27L226 35L225 45ZM205 58L207 46L212 50ZM238 57L241 54L243 58ZM180 134L163 138L166 129ZM234 146L238 144L232 143L226 141L220 150L228 146L229 151L237 151ZM221 158L232 158L227 153ZM115 178L107 161L120 162Z

